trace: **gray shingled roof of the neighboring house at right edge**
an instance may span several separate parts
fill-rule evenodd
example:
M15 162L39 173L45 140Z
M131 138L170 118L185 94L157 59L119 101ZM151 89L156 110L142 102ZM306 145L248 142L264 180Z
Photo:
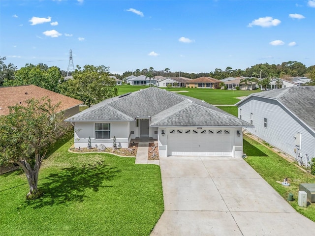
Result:
M315 86L294 86L252 93L236 105L252 96L278 100L286 109L315 131Z

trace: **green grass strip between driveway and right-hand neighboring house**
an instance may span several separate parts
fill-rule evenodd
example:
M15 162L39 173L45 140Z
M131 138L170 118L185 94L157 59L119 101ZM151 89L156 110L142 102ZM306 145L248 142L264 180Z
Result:
M275 152L244 136L244 152L247 154L245 161L263 177L284 199L293 193L294 201L288 202L296 211L315 221L315 204L308 207L299 207L298 191L300 183L315 183L315 176L306 173L285 160ZM285 187L277 181L288 178L290 186ZM268 198L268 196L261 196Z

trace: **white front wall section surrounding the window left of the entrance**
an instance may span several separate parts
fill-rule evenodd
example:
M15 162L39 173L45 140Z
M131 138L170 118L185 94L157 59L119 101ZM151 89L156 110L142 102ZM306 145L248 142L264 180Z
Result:
M120 148L128 148L129 129L128 122L109 122L110 123L110 139L95 139L95 123L101 122L75 122L74 127L74 145L75 148L88 147L88 140L91 137L92 147L103 144L106 147L113 146L113 138L116 137L117 146ZM107 122L103 122L107 123Z

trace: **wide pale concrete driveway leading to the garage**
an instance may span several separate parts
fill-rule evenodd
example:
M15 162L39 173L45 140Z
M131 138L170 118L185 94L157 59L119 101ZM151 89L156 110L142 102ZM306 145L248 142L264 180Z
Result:
M165 210L152 236L314 235L243 159L164 157L160 168Z

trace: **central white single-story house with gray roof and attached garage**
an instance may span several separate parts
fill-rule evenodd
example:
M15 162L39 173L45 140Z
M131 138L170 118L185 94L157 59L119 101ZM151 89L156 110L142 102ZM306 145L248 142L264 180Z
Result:
M150 87L104 100L67 118L74 145L127 148L131 139L158 140L160 157L243 154L243 127L252 125L196 98Z

